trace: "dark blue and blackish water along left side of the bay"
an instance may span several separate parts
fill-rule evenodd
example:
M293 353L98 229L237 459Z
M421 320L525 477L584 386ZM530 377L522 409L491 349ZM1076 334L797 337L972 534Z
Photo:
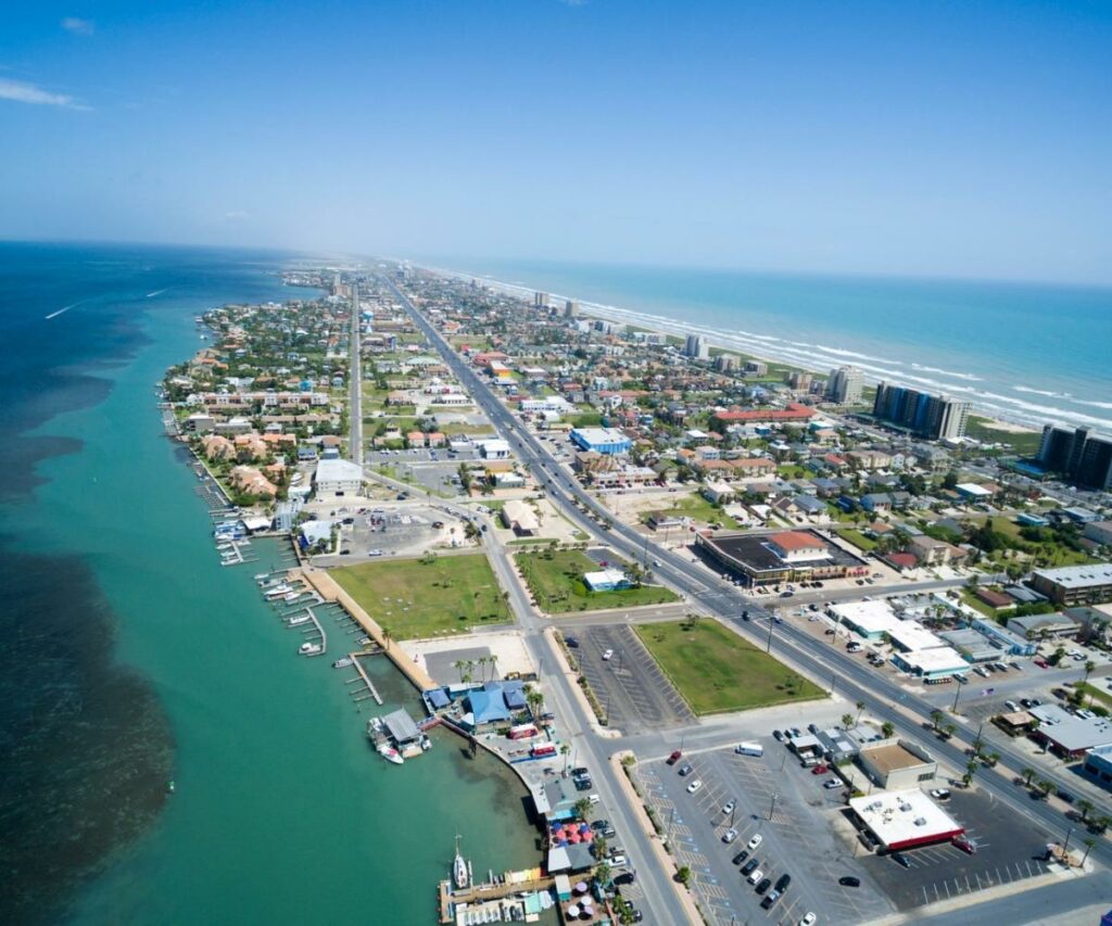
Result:
M208 297L274 298L281 290L260 265L276 260L196 249L0 243L2 923L57 919L78 887L159 813L172 756L149 681L113 657L116 618L79 552L95 545L90 525L58 518L46 540L64 551L28 548L33 492L43 482L37 468L82 449L73 438L30 431L105 401L111 389L105 374L146 343L140 320L152 300L200 306ZM156 290L163 292L148 296ZM129 439L121 427L121 456ZM121 498L120 519L135 516ZM43 539L37 529L39 548Z

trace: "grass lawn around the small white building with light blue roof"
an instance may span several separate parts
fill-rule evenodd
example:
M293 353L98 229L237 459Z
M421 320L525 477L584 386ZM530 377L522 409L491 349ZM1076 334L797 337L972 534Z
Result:
M636 608L677 600L667 588L653 585L614 591L589 591L583 583L583 574L595 572L602 567L582 550L520 552L514 558L533 597L549 614ZM615 567L619 565L617 560L614 561Z

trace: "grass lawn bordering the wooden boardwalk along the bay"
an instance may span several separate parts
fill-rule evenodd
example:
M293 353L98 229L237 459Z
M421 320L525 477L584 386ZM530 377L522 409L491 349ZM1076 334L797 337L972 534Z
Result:
M481 554L366 562L331 575L399 640L461 634L513 619Z

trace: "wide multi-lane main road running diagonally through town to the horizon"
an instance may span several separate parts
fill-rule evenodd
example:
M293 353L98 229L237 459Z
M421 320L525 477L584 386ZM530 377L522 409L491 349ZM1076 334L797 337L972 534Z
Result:
M560 507L563 514L576 527L598 538L602 542L608 544L632 560L652 557L661 564L653 567L657 578L686 595L689 600L702 606L708 614L732 625L741 636L749 639L754 645L764 646L767 635L765 621L772 618L767 609L734 587L726 590L709 588L708 583L712 580L708 579L702 566L648 541L633 528L615 520L610 512L562 471L550 454L520 421L509 414L488 385L451 349L440 333L416 310L405 293L393 282L388 282L388 286L418 328L437 347L453 375L484 410L494 427L516 448L517 456L530 468L534 476L546 484L549 500ZM596 520L585 515L579 506L594 512L604 522L612 524L612 528L602 530ZM924 586L919 587L922 589ZM747 623L742 621L739 615L743 609L748 609L754 619ZM854 657L846 655L841 649L820 647L816 650L814 640L804 630L793 627L791 623L775 627L774 648L782 659L794 663L814 679L837 678L837 690L842 696L853 701L863 701L872 716L881 721L892 723L898 734L915 740L923 738L924 726L930 724L931 713L935 709L935 706L930 701L904 690L895 681L873 671L865 664L855 660ZM574 700L573 698L568 699ZM589 726L584 724L583 728L589 729ZM967 761L966 749L972 747L975 737L975 728L966 729L959 726L950 740L931 739L930 748L942 761L954 768L964 768ZM604 754L602 748L604 743L594 737L585 739L589 749L597 751L599 756ZM1004 744L994 744L994 746L1002 757L1002 766L1010 766L1012 769L1019 770L1029 764L1027 757L1019 750ZM602 763L596 763L596 767L602 768ZM1076 781L1068 783L1062 775L1046 773L1042 777L1064 789L1076 790ZM1012 784L1010 776L1005 777L1004 774L993 769L982 769L977 773L976 784L1003 801L1014 813L1022 814L1045 827L1053 837L1064 838L1070 826L1066 818L1049 804L1030 800L1025 796L1025 791L1021 791ZM1112 844L1106 839L1099 839L1091 857L1104 865L1112 864ZM659 876L658 872L656 874ZM667 890L667 888L665 889ZM671 890L667 893L671 894Z

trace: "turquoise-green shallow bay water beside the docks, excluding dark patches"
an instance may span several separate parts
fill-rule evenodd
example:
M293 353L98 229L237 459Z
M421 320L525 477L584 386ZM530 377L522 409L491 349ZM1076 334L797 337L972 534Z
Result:
M157 258L152 263L140 292L160 288ZM138 813L132 805L150 815L138 839L117 840L107 859L86 860L64 918L430 923L456 833L476 874L538 862L524 788L485 755L465 758L448 734L435 734L433 750L403 767L378 758L364 735L369 715L357 711L342 684L351 670L296 655L299 639L278 625L251 578L266 554L257 566L219 566L196 479L161 435L152 387L200 346L192 317L226 300L291 295L261 271L249 276L247 291L220 279L203 295L129 302L130 352L96 372L110 388L93 389L91 406L40 428L80 440L68 445L79 449L40 460L37 472L47 481L6 510L6 531L18 525L23 552L88 570L102 608L73 599L66 619L78 633L107 621L115 631L109 659L157 699L157 710L145 707L153 719L118 741L109 737L120 724L103 730L103 753L146 745L149 757L112 766L111 790L90 797L81 780L70 785L69 812L81 819L98 809L106 817ZM42 575L47 583L66 579L62 566ZM37 658L49 671L48 657ZM373 670L387 699L383 710L415 704L385 659ZM97 693L83 697L91 705ZM125 717L139 709L139 695L130 697L133 705L115 705ZM85 717L78 708L70 728L90 723L89 708ZM59 743L56 760L99 781L108 759L85 740L78 749L77 739ZM168 777L177 789L162 798ZM113 806L98 808L93 798ZM81 820L71 824L79 833ZM32 856L64 849L53 830L8 835L26 842L28 858L17 860L28 870ZM34 918L26 907L21 913Z

